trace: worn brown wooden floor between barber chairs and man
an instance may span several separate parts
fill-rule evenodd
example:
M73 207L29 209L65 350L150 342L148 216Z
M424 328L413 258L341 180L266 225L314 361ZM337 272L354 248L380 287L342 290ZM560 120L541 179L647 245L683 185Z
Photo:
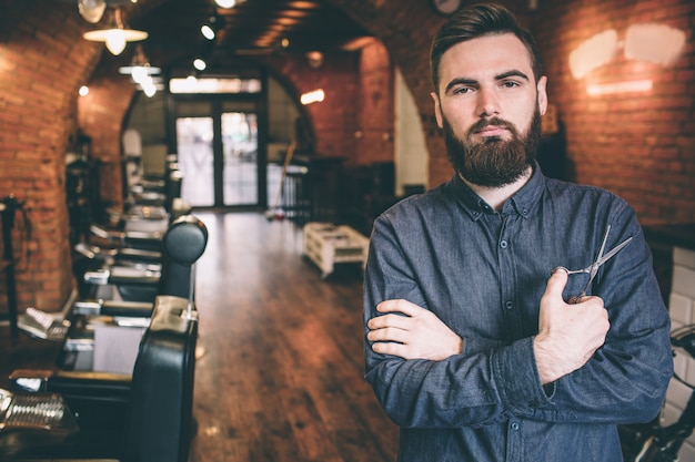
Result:
M197 216L210 238L190 461L395 461L397 429L363 379L360 266L323 280L294 224Z

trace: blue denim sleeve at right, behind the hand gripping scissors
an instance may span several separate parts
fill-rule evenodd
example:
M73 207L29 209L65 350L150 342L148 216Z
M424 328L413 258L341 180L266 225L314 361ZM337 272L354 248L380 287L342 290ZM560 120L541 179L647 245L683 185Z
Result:
M531 417L647 422L664 403L673 376L671 318L632 207L616 215L611 236L606 251L633 240L600 269L592 287L608 310L606 341L583 368L557 380L552 405L527 409Z

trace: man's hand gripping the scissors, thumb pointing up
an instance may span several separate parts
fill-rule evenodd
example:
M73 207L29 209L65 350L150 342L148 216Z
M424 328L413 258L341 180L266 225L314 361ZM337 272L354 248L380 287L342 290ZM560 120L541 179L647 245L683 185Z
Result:
M533 348L543 384L553 382L584 366L603 346L611 324L603 299L582 297L567 304L562 291L567 273L555 270L541 298L538 335Z

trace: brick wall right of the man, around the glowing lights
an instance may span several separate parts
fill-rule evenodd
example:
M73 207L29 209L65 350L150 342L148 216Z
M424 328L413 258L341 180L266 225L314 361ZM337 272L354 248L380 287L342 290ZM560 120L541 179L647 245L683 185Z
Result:
M542 2L533 29L548 74L550 100L566 127L573 178L626 198L643 223L695 220L695 3L689 0ZM662 65L623 50L584 78L572 76L572 50L606 30L620 41L631 24L686 33L682 54ZM590 84L652 80L647 92L587 95Z

